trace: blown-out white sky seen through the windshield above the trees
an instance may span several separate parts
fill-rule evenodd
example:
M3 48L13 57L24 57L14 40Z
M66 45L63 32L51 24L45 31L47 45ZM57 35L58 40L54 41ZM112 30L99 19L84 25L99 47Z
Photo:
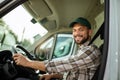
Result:
M33 24L30 21L31 19L32 16L22 6L17 7L3 17L10 29L18 36L18 41L23 39L33 41L33 37L37 34L43 36L47 33L47 30L40 24Z

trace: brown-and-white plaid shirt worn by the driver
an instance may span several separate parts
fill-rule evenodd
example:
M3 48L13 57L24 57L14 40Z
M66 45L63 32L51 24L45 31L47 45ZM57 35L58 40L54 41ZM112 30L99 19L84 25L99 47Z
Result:
M50 61L46 64L49 73L65 73L66 80L91 80L98 65L100 64L101 53L95 45L89 42L79 46L75 55L68 59Z

